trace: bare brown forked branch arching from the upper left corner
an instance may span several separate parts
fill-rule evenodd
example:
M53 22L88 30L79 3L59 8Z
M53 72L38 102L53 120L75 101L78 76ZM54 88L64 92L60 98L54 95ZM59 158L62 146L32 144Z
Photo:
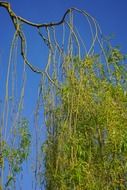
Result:
M95 29L95 36L93 36L93 41L92 41L92 45L88 51L88 54L92 51L93 47L94 47L94 44L95 44L95 41L97 40L98 36L97 36L97 33L98 33L98 26L97 26L97 23L96 23L96 20L91 16L89 15L86 11L81 11L80 9L77 9L75 7L72 7L70 9L67 9L66 12L64 13L62 19L58 22L49 22L49 23L34 23L34 22L31 22L21 16L18 16L14 11L13 9L11 8L11 5L10 3L6 2L6 1L0 1L0 7L3 7L7 10L7 12L9 13L9 16L13 22L13 25L15 27L15 30L16 30L16 33L18 35L18 37L20 38L20 41L21 41L21 56L24 60L24 62L26 63L26 65L28 65L28 67L35 73L38 73L38 74L41 74L41 75L46 75L48 80L54 84L55 82L52 80L52 78L50 77L49 73L47 72L47 70L41 70L39 68L37 68L36 66L33 66L27 59L27 55L26 55L26 41L25 41L25 36L24 36L24 33L21 29L21 24L27 24L27 25L30 25L31 27L35 27L37 28L37 30L39 30L40 28L52 28L52 27L55 27L55 26L59 26L59 25L62 25L62 24L66 24L67 27L69 28L69 30L71 31L71 35L73 36L76 44L77 44L77 47L78 47L78 50L79 50L79 55L80 55L80 44L79 44L79 39L77 38L75 32L74 32L74 29L73 29L73 24L72 23L68 23L66 22L66 17L67 15L71 15L71 13L73 11L75 12L78 12L80 14L82 14L84 17L87 18L88 20L88 23L90 24L90 22L93 23L94 25L94 29ZM91 26L90 26L91 27ZM40 30L39 30L40 31ZM39 35L41 33L39 32ZM93 35L93 34L92 34ZM40 35L43 39L45 39L43 37L43 35L41 34ZM49 40L49 39L48 39ZM56 44L56 47L60 50L59 48L59 45L56 43L56 37L54 38L54 43ZM45 42L45 40L44 40ZM46 43L46 42L45 42ZM53 53L53 52L52 52ZM79 56L80 57L80 56ZM58 85L56 85L58 87Z

